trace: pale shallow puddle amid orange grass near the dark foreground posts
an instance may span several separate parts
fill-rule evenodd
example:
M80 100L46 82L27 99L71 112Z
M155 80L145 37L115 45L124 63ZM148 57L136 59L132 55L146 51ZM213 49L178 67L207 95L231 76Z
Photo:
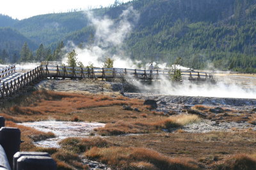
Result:
M36 146L59 148L58 142L65 138L90 136L93 129L104 127L106 124L97 122L61 122L61 121L41 121L25 122L20 125L33 127L42 132L53 132L56 138L35 142Z

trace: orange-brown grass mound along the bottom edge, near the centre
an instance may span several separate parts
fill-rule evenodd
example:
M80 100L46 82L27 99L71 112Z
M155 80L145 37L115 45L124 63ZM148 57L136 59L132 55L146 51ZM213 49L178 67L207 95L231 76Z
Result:
M118 169L198 169L192 159L172 159L147 148L94 147L84 156Z

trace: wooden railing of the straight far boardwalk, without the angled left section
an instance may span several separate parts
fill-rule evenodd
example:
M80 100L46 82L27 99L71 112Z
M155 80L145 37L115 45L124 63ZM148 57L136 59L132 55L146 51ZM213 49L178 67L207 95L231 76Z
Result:
M159 80L168 78L172 71L168 69L154 69L152 72L146 69L126 68L83 68L66 66L43 66L45 76L50 78L126 78L127 80ZM196 71L181 71L181 76L188 80L213 80L212 73L200 73Z

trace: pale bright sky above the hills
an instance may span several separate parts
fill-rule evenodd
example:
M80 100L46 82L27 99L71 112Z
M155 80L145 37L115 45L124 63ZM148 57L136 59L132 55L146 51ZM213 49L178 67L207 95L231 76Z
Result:
M131 0L120 0L128 2ZM1 0L0 13L19 20L47 13L86 10L114 4L115 0Z

